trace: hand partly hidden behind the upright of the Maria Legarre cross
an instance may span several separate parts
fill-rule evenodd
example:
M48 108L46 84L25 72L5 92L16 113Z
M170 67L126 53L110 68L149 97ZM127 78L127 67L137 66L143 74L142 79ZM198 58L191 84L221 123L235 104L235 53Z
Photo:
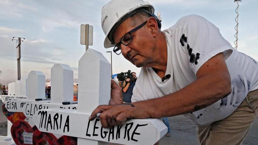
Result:
M121 88L116 84L114 80L111 80L111 98L109 105L116 105L123 103L123 95Z

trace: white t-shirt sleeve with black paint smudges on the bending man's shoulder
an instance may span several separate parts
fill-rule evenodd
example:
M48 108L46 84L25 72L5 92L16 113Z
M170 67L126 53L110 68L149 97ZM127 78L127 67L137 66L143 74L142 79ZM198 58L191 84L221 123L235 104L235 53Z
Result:
M187 21L180 43L187 49L189 66L195 74L216 54L223 52L225 60L230 56L233 47L222 37L215 25L198 15L191 16Z

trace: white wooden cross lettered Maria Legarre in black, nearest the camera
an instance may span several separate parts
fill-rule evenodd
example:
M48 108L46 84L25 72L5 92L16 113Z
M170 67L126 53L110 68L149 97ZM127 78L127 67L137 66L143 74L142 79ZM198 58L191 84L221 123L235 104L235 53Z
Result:
M87 50L79 60L77 110L38 110L33 115L33 122L42 132L78 137L78 145L155 144L167 133L167 127L159 119L129 120L125 125L111 129L104 129L98 118L88 120L98 105L108 104L110 76L111 66L107 59L100 52Z

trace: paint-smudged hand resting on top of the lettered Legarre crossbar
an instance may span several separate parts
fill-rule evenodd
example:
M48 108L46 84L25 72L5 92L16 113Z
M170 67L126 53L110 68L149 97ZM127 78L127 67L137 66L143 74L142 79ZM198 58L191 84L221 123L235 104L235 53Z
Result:
M123 103L119 105L99 105L89 117L92 121L99 115L101 125L104 128L111 128L111 126L122 126L130 119L145 119L150 118L150 115L142 107L137 107L133 103Z

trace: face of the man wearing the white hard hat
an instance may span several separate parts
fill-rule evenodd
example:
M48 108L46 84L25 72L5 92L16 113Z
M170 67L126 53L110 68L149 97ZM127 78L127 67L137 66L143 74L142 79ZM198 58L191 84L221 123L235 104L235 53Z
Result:
M148 66L153 59L153 52L155 50L154 38L150 33L151 29L147 25L148 23L131 34L133 40L129 45L121 44L120 46L125 59L137 67ZM113 33L115 44L118 44L122 37L133 28L135 27L131 25L131 18L121 23Z

